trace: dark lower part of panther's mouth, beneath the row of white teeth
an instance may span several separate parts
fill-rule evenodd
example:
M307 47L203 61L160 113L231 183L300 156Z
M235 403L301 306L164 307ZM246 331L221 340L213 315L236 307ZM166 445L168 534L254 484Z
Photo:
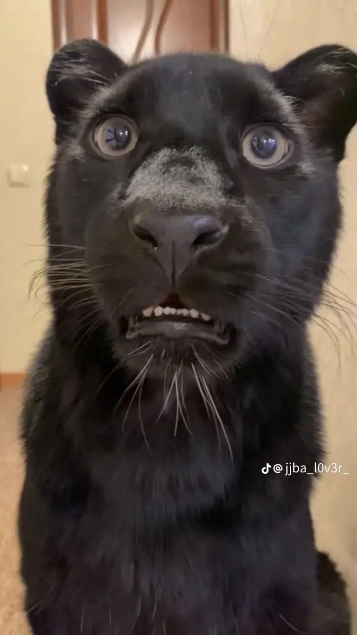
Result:
M126 340L140 337L158 337L167 340L201 340L226 345L229 330L220 323L194 323L185 319L125 319L122 324Z

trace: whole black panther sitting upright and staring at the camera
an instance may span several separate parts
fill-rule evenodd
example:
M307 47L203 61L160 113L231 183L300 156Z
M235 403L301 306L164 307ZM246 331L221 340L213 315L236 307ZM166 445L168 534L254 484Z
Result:
M51 326L30 368L20 504L36 635L327 635L309 318L341 211L357 55L270 71L127 66L80 40L47 76Z

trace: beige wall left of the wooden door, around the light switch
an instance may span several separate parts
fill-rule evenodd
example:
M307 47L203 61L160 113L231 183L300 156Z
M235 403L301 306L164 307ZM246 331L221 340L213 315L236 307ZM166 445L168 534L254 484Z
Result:
M23 371L43 331L46 309L27 299L40 263L43 180L51 154L44 75L51 56L50 2L0 2L0 370ZM10 163L29 166L30 185L9 187Z

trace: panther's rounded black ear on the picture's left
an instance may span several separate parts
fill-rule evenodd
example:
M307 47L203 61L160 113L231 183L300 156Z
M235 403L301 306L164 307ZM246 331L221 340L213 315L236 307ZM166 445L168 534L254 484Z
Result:
M46 91L55 116L57 144L88 98L125 69L124 62L97 40L74 40L55 53L47 72Z

